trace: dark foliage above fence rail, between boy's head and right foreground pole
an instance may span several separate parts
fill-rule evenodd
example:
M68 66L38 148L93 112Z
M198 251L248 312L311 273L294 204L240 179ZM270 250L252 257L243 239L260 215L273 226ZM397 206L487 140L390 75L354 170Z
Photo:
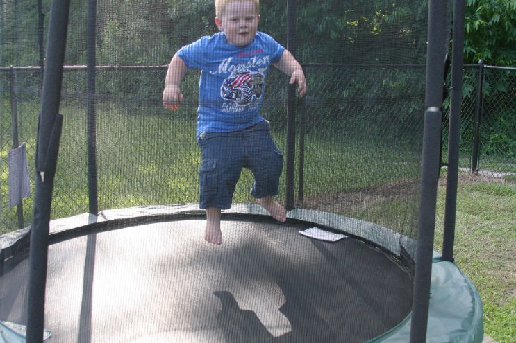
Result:
M283 44L284 7L281 1L263 1L260 24ZM296 54L304 63L420 63L426 52L426 3L297 1L296 28Z

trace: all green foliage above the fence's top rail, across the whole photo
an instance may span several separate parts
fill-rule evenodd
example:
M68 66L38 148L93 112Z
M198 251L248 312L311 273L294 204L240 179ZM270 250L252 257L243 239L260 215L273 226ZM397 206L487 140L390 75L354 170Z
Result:
M44 37L50 0L42 0ZM286 1L261 1L260 29L286 44ZM297 1L301 62L422 63L426 1ZM217 31L213 0L100 1L97 64L166 64L174 51ZM85 64L87 1L72 0L67 64ZM38 6L3 0L0 64L38 65ZM46 42L43 42L45 46ZM467 0L465 62L516 63L516 1Z

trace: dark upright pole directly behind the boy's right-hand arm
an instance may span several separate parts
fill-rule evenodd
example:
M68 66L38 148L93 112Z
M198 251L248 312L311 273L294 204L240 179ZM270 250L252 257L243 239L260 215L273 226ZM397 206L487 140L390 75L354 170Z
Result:
M296 35L296 0L287 3L287 49L294 55ZM296 93L294 85L288 85L287 91L287 172L285 175L285 207L294 209L295 161L296 161Z

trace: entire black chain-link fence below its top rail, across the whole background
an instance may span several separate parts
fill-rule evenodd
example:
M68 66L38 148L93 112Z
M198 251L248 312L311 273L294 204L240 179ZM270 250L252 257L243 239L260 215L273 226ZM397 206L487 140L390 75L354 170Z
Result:
M331 205L332 199L345 195L356 199L338 202L343 207L331 211L400 230L410 227L403 222L406 219L400 221L406 216L382 211L379 199L389 200L403 193L406 194L403 201L417 202L409 195L417 194L412 188L418 186L415 180L419 175L422 133L422 115L418 114L422 113L424 67L307 64L305 69L310 94L297 106L298 151L304 149L312 157L306 162L302 156L297 157L298 175L305 176L304 180L297 180L297 205L335 207ZM510 180L516 172L516 73L514 69L494 67L480 70L482 75L478 66L465 67L460 167ZM190 72L185 78L185 103L182 109L172 113L160 104L165 71L165 66L97 67L93 143L97 147L94 163L99 209L197 202L199 152L194 132L198 74ZM478 77L483 80L480 98ZM26 143L33 190L41 70L2 68L0 78L0 217L1 231L10 231L31 223L32 197L13 208L9 205L7 155L22 142ZM60 107L65 126L54 187L53 218L88 212L88 168L92 164L88 145L92 142L88 138L85 79L85 67L65 68ZM275 139L285 149L286 80L274 69L269 72L268 80L262 114L272 120ZM333 137L333 143L326 146L318 137ZM340 142L338 148L335 142ZM343 146L354 146L354 150L343 150ZM475 146L478 159L474 159ZM445 160L447 114L443 123L443 148ZM335 151L339 153L335 155ZM320 174L342 167L350 172ZM377 175L383 175L382 186L378 186ZM244 173L243 177L249 175ZM284 180L281 184L285 184ZM252 201L245 187L237 190L235 202ZM381 195L377 194L378 189ZM360 206L369 197L378 208ZM383 213L382 218L377 218L378 213ZM391 215L387 216L388 213Z

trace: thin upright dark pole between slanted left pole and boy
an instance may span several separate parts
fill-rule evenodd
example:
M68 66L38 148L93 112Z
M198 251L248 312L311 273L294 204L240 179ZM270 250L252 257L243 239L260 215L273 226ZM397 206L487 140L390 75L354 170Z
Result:
M97 214L97 113L95 112L95 67L96 53L97 0L88 0L88 26L86 27L86 78L88 111L88 206L89 212Z

